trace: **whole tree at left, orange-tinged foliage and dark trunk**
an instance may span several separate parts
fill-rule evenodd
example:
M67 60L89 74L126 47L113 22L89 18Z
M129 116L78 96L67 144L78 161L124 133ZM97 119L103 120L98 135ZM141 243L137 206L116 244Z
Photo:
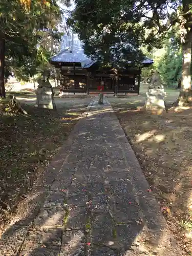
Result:
M61 11L56 0L7 0L0 3L0 97L5 97L9 67L16 74L35 72L45 34L55 38Z

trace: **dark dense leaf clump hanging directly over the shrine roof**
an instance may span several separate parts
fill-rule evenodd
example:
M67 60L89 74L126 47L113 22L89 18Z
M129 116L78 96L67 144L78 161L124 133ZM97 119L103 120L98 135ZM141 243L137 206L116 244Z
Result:
M133 1L81 0L68 20L83 42L87 55L104 66L124 66L127 60L137 62L143 58L139 50L144 29L139 14L134 14ZM83 15L82 15L83 13ZM124 13L124 16L123 16Z

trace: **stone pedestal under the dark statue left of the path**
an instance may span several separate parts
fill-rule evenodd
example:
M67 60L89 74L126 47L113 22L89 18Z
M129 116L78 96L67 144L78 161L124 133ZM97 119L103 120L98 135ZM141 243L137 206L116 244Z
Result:
M36 90L37 101L35 106L41 109L55 110L56 105L55 105L53 95L54 95L53 88L47 88L47 87L37 88Z

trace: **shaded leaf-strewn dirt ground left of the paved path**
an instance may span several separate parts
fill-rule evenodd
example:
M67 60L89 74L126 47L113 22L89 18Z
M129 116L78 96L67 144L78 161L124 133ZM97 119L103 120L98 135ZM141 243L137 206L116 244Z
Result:
M10 223L18 203L45 171L90 100L56 100L56 111L37 109L24 100L28 115L0 113L0 230Z

